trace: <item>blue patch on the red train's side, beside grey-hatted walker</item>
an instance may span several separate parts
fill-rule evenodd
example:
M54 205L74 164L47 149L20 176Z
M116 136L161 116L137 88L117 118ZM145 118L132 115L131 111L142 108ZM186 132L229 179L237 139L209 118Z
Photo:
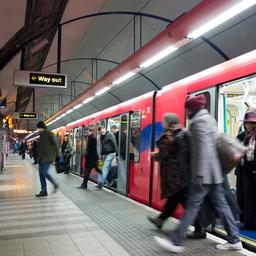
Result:
M152 124L149 124L140 132L140 152L150 149L151 128ZM162 130L161 122L155 123L155 143L162 133Z

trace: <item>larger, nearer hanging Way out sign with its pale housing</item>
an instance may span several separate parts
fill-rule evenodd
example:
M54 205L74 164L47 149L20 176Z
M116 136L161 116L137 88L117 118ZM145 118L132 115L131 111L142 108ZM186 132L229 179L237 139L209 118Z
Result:
M16 86L67 88L67 75L14 70L13 84Z

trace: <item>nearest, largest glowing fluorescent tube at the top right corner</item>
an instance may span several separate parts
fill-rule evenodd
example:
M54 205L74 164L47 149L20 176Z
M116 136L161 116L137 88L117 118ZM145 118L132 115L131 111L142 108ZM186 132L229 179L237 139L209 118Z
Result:
M220 24L224 23L225 21L233 18L234 16L238 15L239 13L245 11L246 9L252 7L256 4L256 0L242 0L238 4L234 5L227 11L223 12L216 18L212 19L211 21L205 23L202 27L196 29L192 33L190 33L187 38L188 39L195 39L206 32L216 28Z

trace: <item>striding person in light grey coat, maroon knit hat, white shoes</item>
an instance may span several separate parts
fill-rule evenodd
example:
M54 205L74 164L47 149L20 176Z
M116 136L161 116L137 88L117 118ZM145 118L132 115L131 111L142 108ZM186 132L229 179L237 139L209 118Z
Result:
M206 99L204 95L190 97L186 101L192 137L192 185L187 207L179 226L171 233L169 239L155 237L160 246L171 252L183 252L182 242L185 232L188 226L195 221L207 195L209 195L216 212L223 219L228 234L228 242L217 245L216 248L220 250L242 249L239 230L224 195L223 172L216 147L218 138L216 122L205 107Z

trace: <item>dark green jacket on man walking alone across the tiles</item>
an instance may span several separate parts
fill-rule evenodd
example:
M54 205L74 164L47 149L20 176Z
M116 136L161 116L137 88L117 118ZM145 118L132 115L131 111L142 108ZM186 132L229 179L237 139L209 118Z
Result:
M53 136L53 133L46 128L40 132L40 138L38 143L38 156L39 161L42 163L53 162L58 155L57 142Z

